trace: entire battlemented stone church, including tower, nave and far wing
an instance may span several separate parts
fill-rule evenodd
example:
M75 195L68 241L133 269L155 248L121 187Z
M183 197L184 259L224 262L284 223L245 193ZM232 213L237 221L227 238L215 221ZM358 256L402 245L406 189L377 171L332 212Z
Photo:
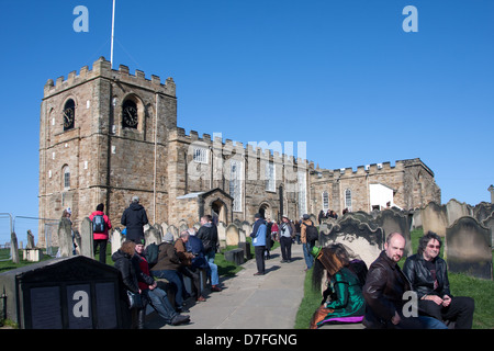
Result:
M221 134L177 126L173 79L161 82L103 57L67 79L48 79L40 118L40 217L70 207L77 225L99 203L114 226L138 195L149 223L190 225L204 214L229 224L257 212L279 219L392 204L440 203L434 172L409 159L326 170ZM41 235L40 235L41 236ZM40 238L43 242L43 238Z

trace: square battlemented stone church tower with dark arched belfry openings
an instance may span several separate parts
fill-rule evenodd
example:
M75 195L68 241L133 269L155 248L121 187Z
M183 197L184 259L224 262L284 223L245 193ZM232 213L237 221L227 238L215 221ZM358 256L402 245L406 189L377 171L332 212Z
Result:
M150 223L166 218L167 140L177 128L176 86L99 58L44 87L40 118L40 217L70 207L77 224L99 203L114 226L133 195ZM40 238L44 241L44 238Z

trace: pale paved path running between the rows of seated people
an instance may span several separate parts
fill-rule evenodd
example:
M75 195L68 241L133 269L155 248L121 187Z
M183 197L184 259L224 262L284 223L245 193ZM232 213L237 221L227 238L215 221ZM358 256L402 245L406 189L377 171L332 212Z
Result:
M155 313L146 318L149 329L293 329L304 294L305 260L302 245L292 245L290 263L281 263L277 248L266 260L266 274L257 272L252 258L234 278L224 279L223 291L189 309L191 322L172 327Z

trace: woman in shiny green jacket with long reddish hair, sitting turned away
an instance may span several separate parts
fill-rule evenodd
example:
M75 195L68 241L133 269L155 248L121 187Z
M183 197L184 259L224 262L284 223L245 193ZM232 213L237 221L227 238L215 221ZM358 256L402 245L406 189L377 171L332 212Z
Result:
M366 314L362 285L367 274L363 261L350 261L341 244L314 248L316 258L313 271L313 287L321 290L324 271L327 273L327 288L322 305L314 313L311 329L324 324L361 322Z

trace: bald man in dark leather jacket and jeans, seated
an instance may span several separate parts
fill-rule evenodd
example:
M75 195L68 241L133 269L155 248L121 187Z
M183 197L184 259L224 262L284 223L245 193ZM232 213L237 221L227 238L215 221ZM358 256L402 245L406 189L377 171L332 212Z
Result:
M405 249L405 238L393 233L386 238L384 251L372 262L363 285L367 309L363 325L370 329L446 329L441 321L426 316L406 316L403 313L405 292L411 284L397 262Z

